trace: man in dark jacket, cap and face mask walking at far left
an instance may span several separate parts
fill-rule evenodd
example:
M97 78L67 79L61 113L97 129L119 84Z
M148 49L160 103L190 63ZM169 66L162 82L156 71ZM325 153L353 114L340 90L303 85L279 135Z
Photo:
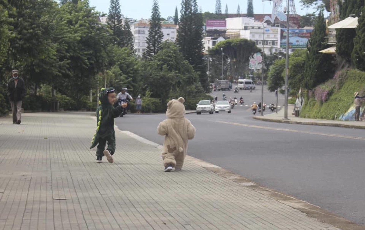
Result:
M7 85L7 95L10 98L13 124L22 122L22 101L26 95L24 80L18 76L18 70L12 70L12 78Z

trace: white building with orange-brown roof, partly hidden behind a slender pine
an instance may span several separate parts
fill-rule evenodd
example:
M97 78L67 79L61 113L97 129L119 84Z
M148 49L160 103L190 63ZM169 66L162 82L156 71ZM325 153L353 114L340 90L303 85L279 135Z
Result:
M171 22L161 22L161 23L162 23L162 33L164 34L163 41L171 40L172 42L175 42L177 25L172 24ZM138 56L142 56L143 52L147 47L146 38L148 37L149 27L150 25L148 20L143 20L143 19L131 25L131 31L135 41L134 49Z

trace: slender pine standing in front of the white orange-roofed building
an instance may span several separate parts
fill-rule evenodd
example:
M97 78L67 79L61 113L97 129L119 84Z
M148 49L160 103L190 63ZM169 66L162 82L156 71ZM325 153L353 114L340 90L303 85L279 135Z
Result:
M150 28L148 30L148 37L146 38L147 47L143 53L143 57L151 58L153 55L161 49L162 39L164 39L164 34L162 33L161 24L161 14L160 7L158 6L158 1L153 1Z

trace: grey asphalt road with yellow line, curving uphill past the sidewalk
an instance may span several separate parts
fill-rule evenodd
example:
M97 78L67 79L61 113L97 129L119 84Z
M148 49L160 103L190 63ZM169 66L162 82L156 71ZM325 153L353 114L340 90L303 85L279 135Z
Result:
M261 101L261 88L225 93L228 98L243 95L245 104ZM214 94L222 98L221 91ZM274 93L265 90L264 101L275 103ZM281 96L279 105L283 103ZM264 122L254 120L247 109L187 114L196 128L188 154L365 225L362 129ZM156 129L165 118L165 114L127 114L116 118L115 124L163 144Z

